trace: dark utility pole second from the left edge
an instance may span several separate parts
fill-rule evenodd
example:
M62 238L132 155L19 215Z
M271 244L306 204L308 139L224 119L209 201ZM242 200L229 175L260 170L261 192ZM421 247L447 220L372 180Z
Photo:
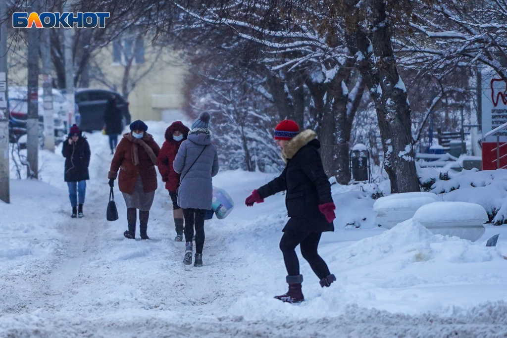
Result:
M39 12L39 0L33 3ZM28 28L28 119L26 120L26 149L29 168L27 177L39 178L39 46L41 29L34 24Z

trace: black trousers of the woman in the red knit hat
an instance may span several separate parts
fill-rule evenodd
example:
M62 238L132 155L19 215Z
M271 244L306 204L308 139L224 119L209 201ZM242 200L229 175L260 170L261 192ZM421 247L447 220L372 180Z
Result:
M285 261L285 268L287 275L297 276L299 272L299 260L296 254L296 247L298 244L301 248L301 254L305 258L313 272L319 279L330 275L328 265L318 255L317 247L322 233L308 233L299 231L285 231L282 239L280 240L280 250L283 253L283 260Z

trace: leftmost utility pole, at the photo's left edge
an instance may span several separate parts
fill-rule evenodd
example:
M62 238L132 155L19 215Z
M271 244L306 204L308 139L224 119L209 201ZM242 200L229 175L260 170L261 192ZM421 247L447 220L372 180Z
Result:
M0 200L11 203L9 97L7 95L7 0L0 0Z

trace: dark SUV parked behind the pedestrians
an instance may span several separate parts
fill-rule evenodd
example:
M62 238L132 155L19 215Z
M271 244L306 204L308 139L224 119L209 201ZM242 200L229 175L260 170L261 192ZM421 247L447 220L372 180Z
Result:
M117 92L104 89L77 89L76 104L81 113L79 128L86 132L102 130L104 127L104 111L107 99L116 96L118 107L122 110L124 125L130 124L128 102Z

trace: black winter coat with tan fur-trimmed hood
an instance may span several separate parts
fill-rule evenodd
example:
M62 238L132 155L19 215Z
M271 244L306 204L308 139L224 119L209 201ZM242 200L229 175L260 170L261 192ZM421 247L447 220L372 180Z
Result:
M312 130L305 130L289 141L282 151L286 166L280 176L257 192L261 198L287 191L285 205L290 219L283 231L334 231L318 206L333 202L331 184L324 173L318 149L320 142Z

